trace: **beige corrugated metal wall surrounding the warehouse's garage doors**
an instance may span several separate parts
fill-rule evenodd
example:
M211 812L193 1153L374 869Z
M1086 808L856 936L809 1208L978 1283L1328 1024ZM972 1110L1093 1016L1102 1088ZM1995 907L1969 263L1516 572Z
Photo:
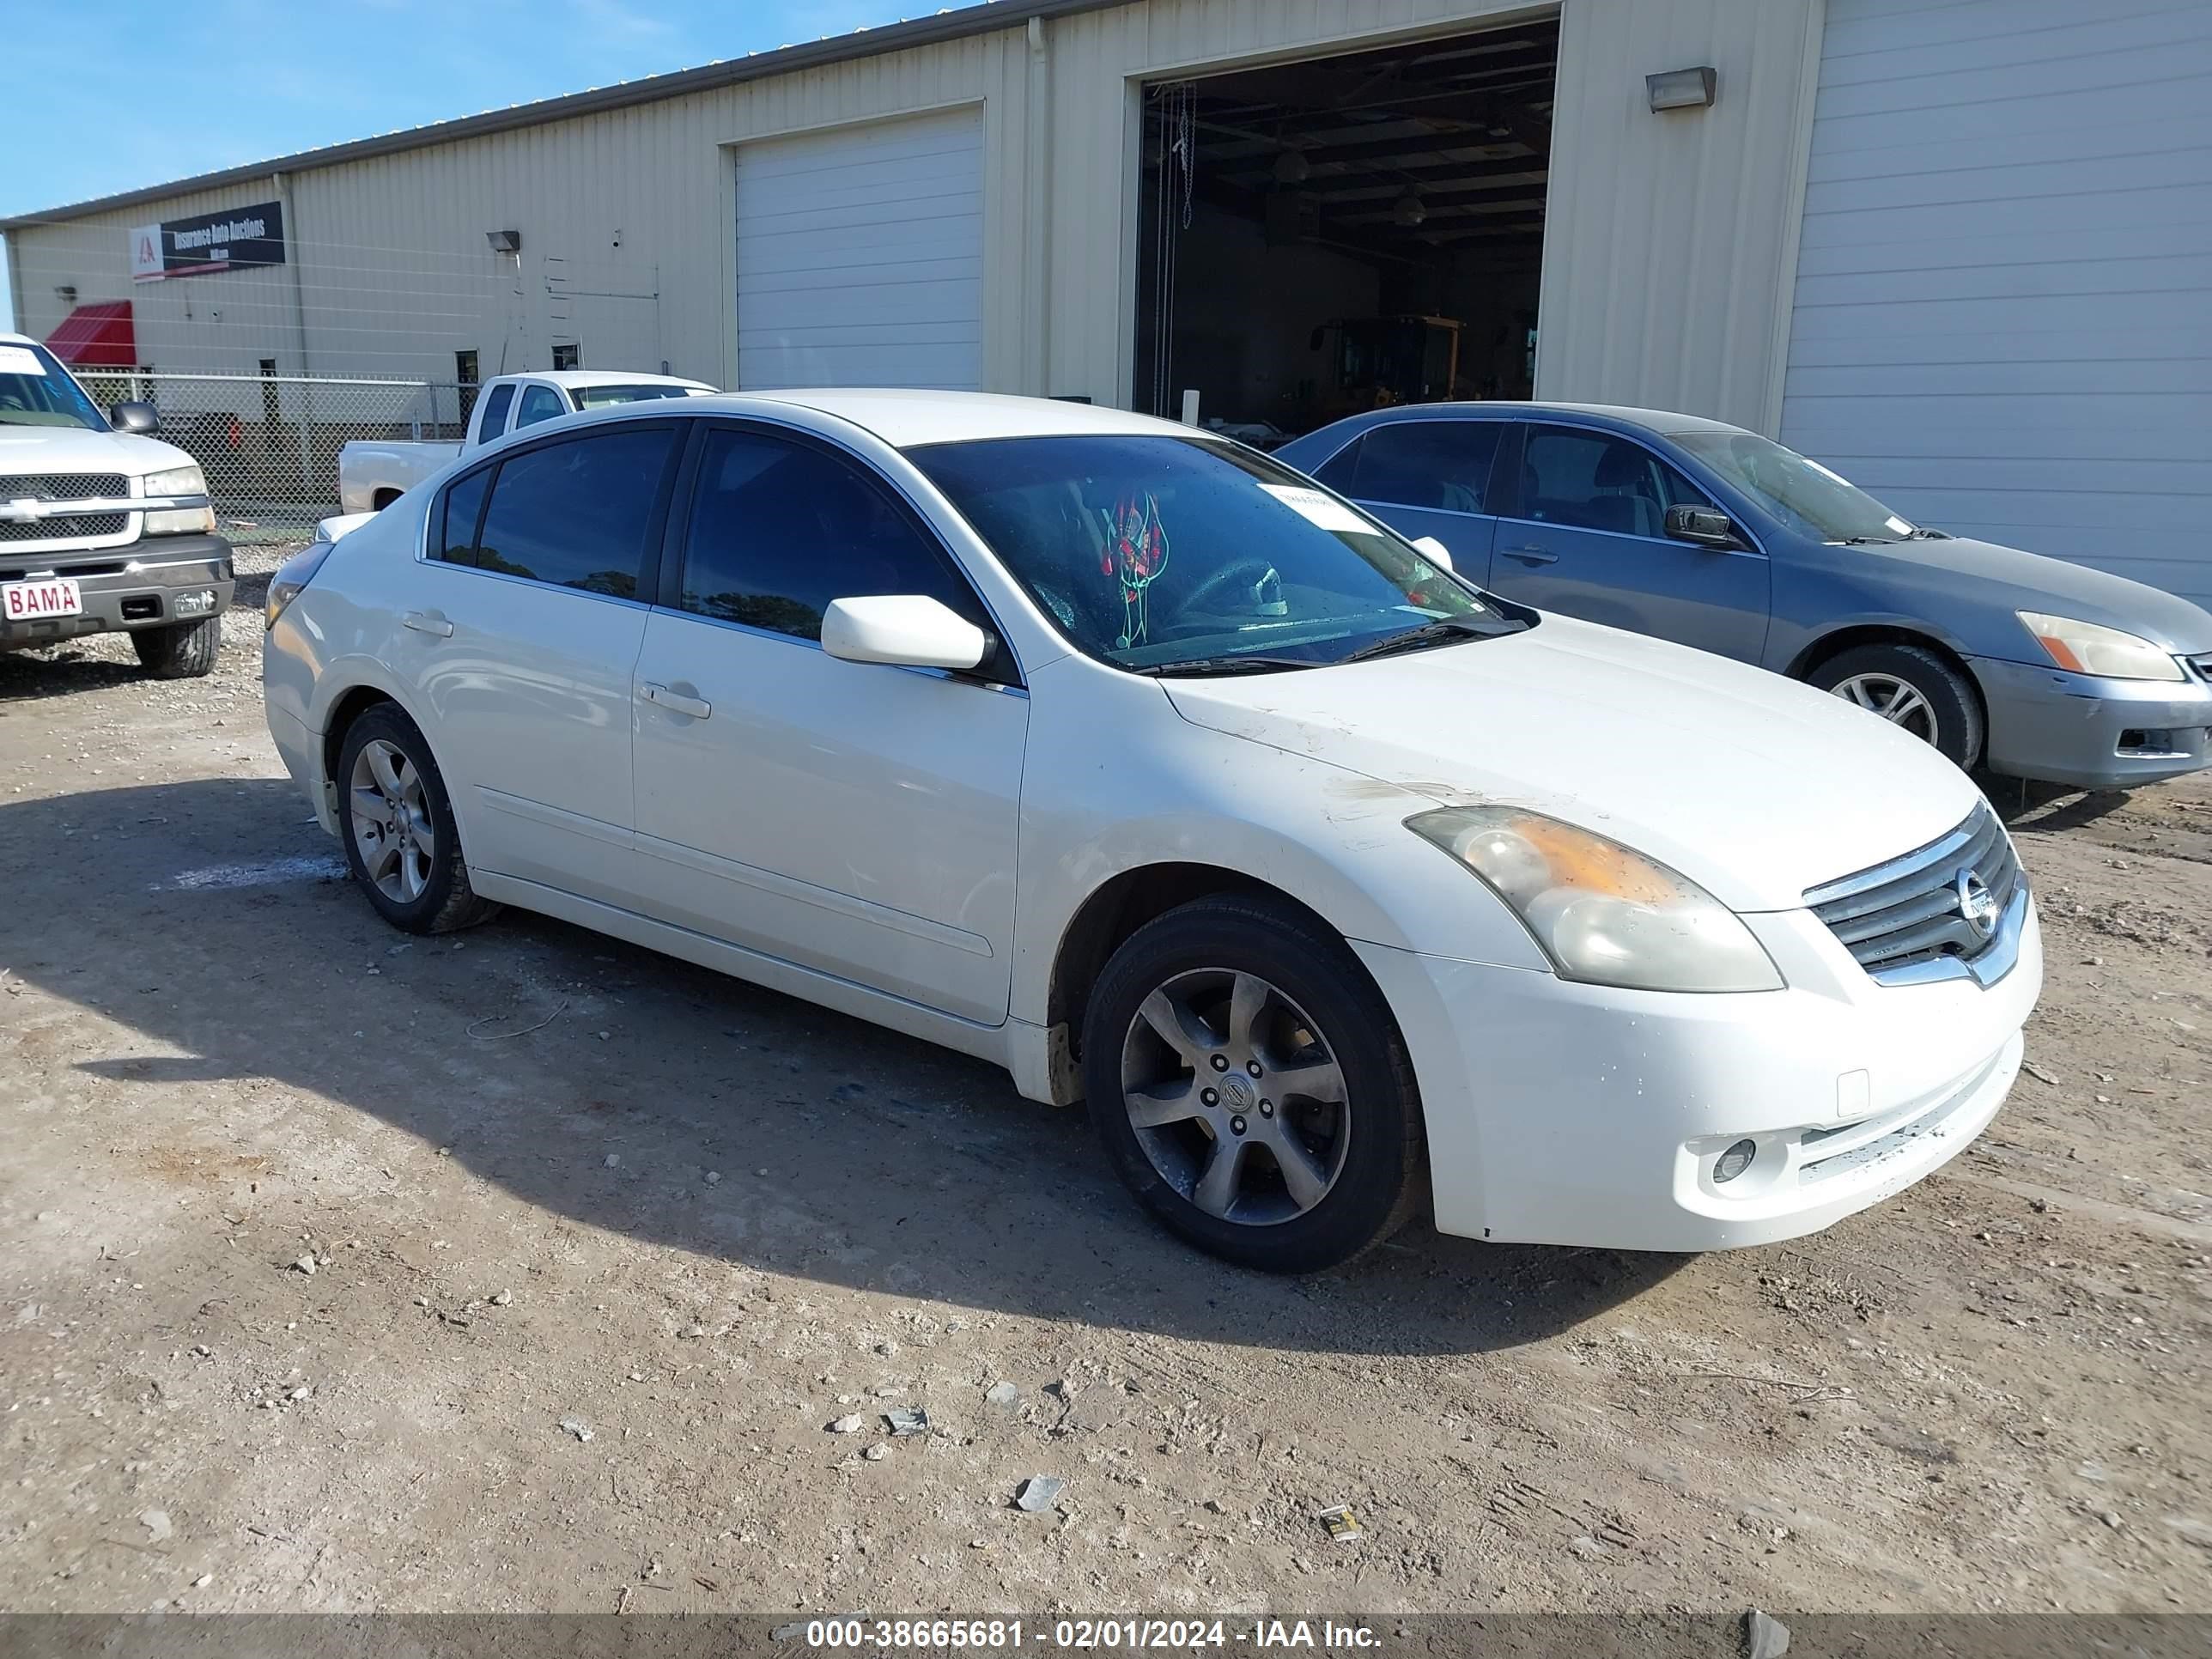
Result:
M1542 396L1641 400L1774 427L1820 0L1564 0ZM1135 0L535 128L296 175L307 365L451 378L586 363L734 383L730 146L975 104L984 108L984 383L1126 403L1135 334L1137 111L1146 80L1374 46L1528 15L1509 0ZM1717 64L1712 111L1652 115L1644 75ZM146 352L230 352L170 312L285 272L133 290L124 230L219 201L142 206L15 232L33 332L82 299L131 296ZM484 246L522 232L520 261ZM113 243L106 252L102 239ZM243 290L241 290L243 292ZM228 321L228 319L226 319ZM170 347L166 341L175 338ZM602 347L599 341L617 341ZM270 345L299 369L290 341ZM157 356L164 367L166 358Z

